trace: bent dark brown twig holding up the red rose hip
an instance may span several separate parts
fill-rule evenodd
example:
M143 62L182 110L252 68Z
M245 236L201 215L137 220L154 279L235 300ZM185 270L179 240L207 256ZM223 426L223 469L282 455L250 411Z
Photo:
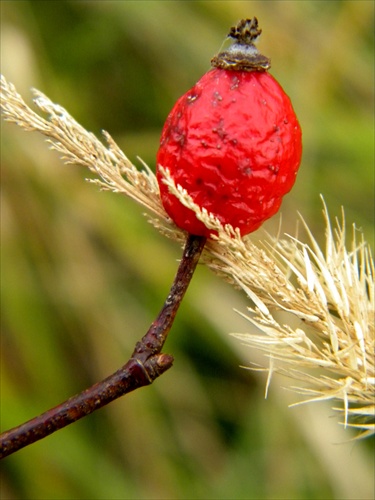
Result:
M151 384L173 364L161 349L189 286L206 238L189 235L168 297L146 335L137 342L129 361L115 373L64 403L0 436L0 458L62 429L111 401Z

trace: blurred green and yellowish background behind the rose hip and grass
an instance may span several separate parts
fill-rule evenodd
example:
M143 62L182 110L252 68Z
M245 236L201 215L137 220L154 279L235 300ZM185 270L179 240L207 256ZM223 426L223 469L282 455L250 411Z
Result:
M4 1L2 73L36 87L152 168L175 100L209 69L229 27L256 15L260 49L304 133L282 206L323 241L322 193L373 242L372 1ZM156 316L181 249L133 202L100 193L43 138L2 123L1 429L104 378ZM278 231L279 217L265 225ZM254 235L262 238L261 231ZM298 396L230 332L243 295L200 266L165 352L175 365L2 463L3 499L343 499L373 497L373 441L349 443L330 406ZM333 418L330 418L333 417ZM340 444L337 444L340 443Z

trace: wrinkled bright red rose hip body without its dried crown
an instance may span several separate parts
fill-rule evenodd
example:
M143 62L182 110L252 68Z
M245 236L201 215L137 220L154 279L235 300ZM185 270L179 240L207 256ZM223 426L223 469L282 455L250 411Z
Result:
M208 71L175 104L157 153L163 206L189 233L210 236L163 183L160 166L193 201L241 235L274 215L290 191L302 134L289 97L265 71Z

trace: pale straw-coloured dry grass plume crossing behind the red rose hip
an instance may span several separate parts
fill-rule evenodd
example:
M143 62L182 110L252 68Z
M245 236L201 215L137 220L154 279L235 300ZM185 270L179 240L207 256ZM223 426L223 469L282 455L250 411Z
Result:
M147 209L164 235L185 239L166 214L147 165L140 160L143 169L138 170L108 133L103 132L106 146L61 106L33 92L47 119L1 77L4 119L42 133L65 163L83 165L97 176L90 182L129 196ZM353 227L347 236L344 212L332 227L324 206L324 249L302 217L304 238L266 235L256 244L223 227L174 184L168 171L164 175L171 192L217 234L206 244L204 263L250 299L247 314L240 314L258 333L233 335L264 352L265 366L249 368L268 371L266 392L272 373L282 373L296 381L291 388L303 395L301 402L332 400L345 426L358 428L361 436L374 433L374 264L363 235Z

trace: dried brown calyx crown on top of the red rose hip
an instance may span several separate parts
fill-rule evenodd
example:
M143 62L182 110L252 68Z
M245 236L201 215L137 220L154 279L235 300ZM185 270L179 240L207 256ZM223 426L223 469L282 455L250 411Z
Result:
M227 50L213 57L211 65L232 71L267 71L271 67L271 61L260 54L255 46L261 33L256 17L242 19L228 34L228 38L236 41Z

